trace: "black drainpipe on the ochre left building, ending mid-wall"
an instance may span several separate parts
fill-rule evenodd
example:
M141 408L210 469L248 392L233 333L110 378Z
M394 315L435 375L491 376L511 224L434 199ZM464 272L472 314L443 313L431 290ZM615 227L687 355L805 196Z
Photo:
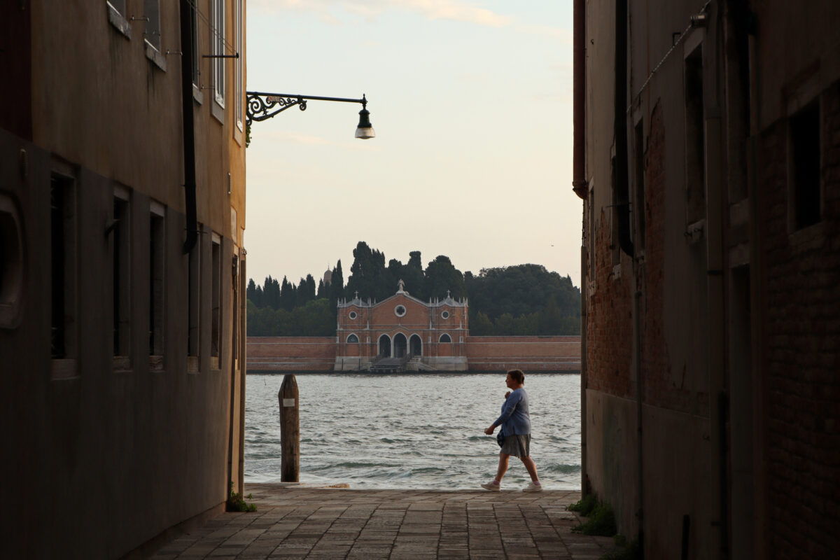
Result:
M186 240L183 253L196 245L196 130L192 116L192 13L188 0L181 0L181 112L184 119L184 196Z

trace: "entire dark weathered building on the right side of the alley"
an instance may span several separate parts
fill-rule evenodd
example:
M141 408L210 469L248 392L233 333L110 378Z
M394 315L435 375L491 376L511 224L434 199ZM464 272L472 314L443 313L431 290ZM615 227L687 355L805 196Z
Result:
M646 557L840 548L838 25L575 0L585 490Z

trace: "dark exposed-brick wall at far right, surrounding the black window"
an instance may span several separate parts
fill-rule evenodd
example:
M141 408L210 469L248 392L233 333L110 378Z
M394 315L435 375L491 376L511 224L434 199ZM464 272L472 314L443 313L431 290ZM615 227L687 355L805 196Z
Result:
M840 546L840 82L819 97L822 222L790 233L785 119L760 139L767 535L781 557Z

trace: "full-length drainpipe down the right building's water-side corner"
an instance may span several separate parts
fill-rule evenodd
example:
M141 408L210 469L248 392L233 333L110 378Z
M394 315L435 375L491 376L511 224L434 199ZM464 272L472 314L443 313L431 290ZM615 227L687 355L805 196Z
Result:
M575 0L575 79L574 79L574 166L572 170L572 190L586 200L589 190L586 181L586 0ZM592 201L589 201L591 204ZM583 205L583 223L586 223L586 205ZM586 231L590 232L593 224ZM586 306L589 301L586 292L586 243L580 247L580 495L589 494L589 481L586 477Z

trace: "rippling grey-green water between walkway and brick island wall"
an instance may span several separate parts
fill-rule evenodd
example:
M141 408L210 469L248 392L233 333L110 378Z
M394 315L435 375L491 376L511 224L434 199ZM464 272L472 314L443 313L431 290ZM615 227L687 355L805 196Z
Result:
M297 374L301 482L354 489L475 489L493 478L504 374ZM247 376L245 482L280 482L282 375ZM533 374L531 457L551 489L580 489L580 375ZM512 457L505 485L525 485Z

